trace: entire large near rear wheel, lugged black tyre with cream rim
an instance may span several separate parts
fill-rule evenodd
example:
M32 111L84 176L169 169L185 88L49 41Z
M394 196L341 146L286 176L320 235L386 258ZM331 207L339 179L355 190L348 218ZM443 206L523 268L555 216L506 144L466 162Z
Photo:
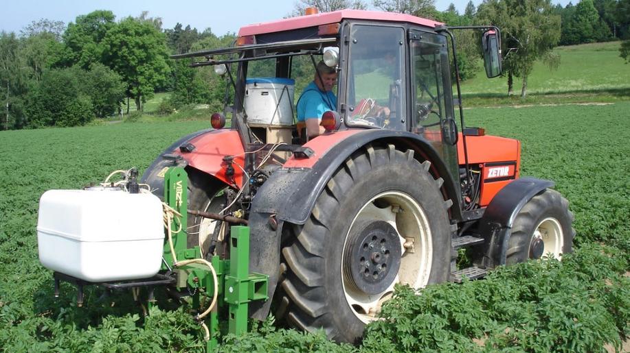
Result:
M289 225L280 300L289 323L356 343L394 284L449 280L451 202L428 169L394 145L366 147L339 167L304 226Z

